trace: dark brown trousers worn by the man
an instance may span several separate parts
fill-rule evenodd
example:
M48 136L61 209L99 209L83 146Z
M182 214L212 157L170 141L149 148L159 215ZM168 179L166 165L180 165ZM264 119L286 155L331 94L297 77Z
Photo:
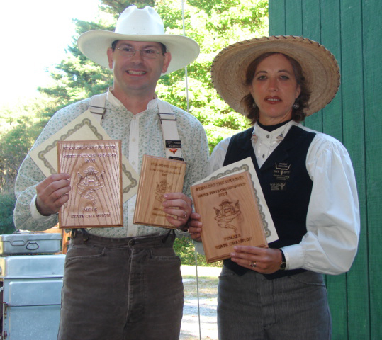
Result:
M178 340L180 259L172 234L109 239L78 232L64 268L58 340Z

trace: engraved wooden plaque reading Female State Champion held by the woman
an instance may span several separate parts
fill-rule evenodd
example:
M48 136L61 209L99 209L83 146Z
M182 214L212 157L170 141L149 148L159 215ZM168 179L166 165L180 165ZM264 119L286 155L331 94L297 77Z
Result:
M268 246L248 171L191 186L191 194L207 263L229 259L234 246Z

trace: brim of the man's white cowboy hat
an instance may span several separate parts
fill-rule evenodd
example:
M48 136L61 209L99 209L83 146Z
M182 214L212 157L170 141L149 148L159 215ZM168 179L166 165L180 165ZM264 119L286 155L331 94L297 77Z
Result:
M79 50L90 60L103 67L108 67L107 49L115 40L162 42L171 53L168 74L191 64L199 55L199 45L183 35L123 35L108 30L89 30L79 36L77 45Z

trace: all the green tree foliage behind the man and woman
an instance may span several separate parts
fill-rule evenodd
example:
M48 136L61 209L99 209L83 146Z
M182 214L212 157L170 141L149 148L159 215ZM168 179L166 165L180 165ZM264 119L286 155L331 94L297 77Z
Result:
M247 128L247 120L232 111L213 89L210 67L215 55L230 43L268 35L268 1L190 0L184 3L184 29L180 0L101 0L100 3L95 21L74 21L77 35L73 37L72 45L67 47L67 57L50 69L53 85L38 89L43 97L13 108L0 108L0 193L12 191L18 166L56 111L113 86L112 72L82 55L77 47L77 38L88 30L113 31L119 14L130 4L138 8L154 6L167 33L183 35L185 31L201 47L198 59L187 69L188 91L185 89L185 70L180 69L159 79L159 98L189 109L201 121L210 151L224 137ZM4 200L7 204L11 202L9 198ZM9 208L11 210L13 207ZM193 249L192 244L181 246L182 259L190 247Z

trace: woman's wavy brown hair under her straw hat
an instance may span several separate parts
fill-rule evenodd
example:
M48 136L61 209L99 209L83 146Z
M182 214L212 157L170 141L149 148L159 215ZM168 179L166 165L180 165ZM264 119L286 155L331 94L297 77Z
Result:
M303 75L303 69L301 65L292 57L289 57L288 55L284 55L283 53L279 52L268 52L264 53L263 55L260 55L253 62L251 62L251 64L249 64L247 72L245 73L245 84L247 86L251 86L257 66L259 66L260 62L262 62L266 57L277 54L283 55L284 57L286 57L287 60L289 60L289 62L291 62L297 84L300 85L301 93L295 102L298 103L300 107L292 109L292 119L296 122L302 122L306 117L304 109L308 107L310 91L306 84L306 79ZM242 104L245 108L245 113L247 113L247 118L251 120L252 124L256 123L259 119L259 108L257 107L256 103L254 103L254 98L252 97L252 94L249 93L247 94L247 96L242 98Z

